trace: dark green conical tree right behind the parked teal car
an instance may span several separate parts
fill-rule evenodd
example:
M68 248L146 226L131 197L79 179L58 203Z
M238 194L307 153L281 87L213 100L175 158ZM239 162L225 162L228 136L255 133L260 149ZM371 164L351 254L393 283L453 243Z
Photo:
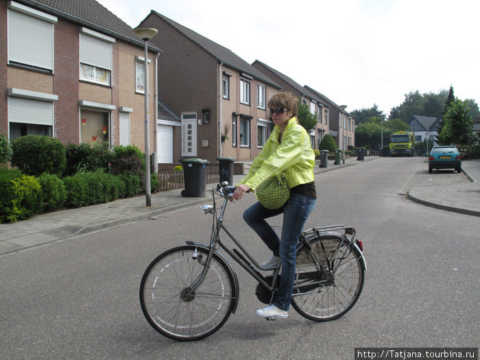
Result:
M462 144L470 141L473 121L467 101L455 98L446 110L444 122L444 128L440 134L444 144Z

